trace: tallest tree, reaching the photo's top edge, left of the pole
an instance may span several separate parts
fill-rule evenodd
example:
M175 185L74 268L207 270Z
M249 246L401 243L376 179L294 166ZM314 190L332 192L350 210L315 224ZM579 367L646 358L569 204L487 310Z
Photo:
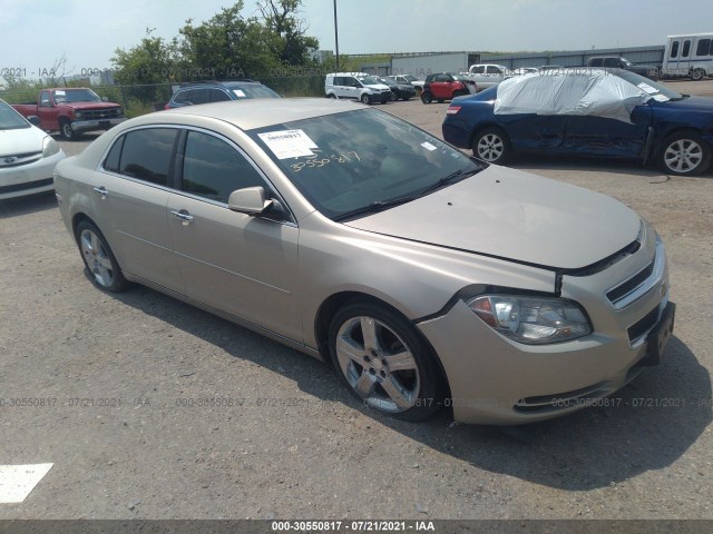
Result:
M297 18L302 0L262 0L257 9L273 39L273 53L282 65L302 66L311 62L310 53L318 50L320 42L306 36L307 24Z

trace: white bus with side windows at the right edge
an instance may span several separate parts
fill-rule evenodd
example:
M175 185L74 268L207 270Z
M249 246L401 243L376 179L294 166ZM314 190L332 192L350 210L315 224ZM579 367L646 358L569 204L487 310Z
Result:
M694 80L713 76L713 33L668 36L661 75Z

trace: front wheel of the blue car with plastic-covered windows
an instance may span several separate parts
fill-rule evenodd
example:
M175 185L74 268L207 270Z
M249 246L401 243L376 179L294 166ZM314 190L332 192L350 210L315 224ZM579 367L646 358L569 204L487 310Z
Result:
M662 169L676 176L697 176L711 165L711 147L693 131L668 136L658 152Z

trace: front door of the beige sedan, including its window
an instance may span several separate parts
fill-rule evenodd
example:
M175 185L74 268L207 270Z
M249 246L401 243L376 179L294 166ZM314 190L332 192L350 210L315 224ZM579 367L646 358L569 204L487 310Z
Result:
M179 191L168 199L169 229L186 295L253 325L302 340L294 303L296 225L227 207L244 187L273 191L264 175L232 141L188 130L178 169Z

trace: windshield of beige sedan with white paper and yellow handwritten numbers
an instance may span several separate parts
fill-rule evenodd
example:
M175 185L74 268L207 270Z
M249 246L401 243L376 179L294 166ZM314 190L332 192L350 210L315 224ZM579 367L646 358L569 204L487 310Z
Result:
M426 195L482 168L430 134L375 109L273 125L248 135L332 219Z

